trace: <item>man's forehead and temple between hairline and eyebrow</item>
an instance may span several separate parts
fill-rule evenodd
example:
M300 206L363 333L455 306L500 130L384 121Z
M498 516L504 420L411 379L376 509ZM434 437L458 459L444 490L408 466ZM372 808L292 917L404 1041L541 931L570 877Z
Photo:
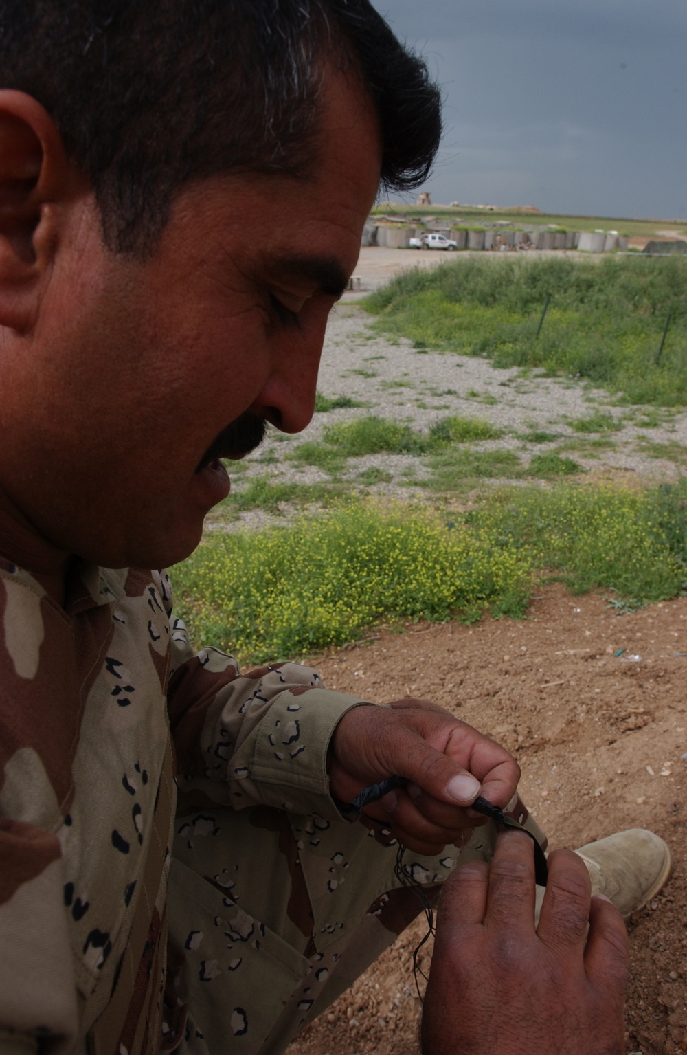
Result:
M300 175L224 173L185 190L163 232L156 266L167 273L212 267L293 274L340 291L356 266L381 168L377 115L357 79L323 78L314 159Z

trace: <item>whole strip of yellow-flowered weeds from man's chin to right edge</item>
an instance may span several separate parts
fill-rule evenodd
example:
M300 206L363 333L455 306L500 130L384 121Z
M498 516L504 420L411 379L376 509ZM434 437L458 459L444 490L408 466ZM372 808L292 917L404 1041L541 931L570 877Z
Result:
M509 488L446 519L355 502L285 528L212 533L174 573L196 642L276 659L379 621L521 615L545 574L632 603L687 578L687 490Z

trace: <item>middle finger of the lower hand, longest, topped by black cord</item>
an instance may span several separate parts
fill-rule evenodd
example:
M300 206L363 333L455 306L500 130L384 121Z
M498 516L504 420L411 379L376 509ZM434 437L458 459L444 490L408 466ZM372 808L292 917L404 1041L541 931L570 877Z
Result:
M489 870L485 922L534 932L534 848L526 832L502 831Z

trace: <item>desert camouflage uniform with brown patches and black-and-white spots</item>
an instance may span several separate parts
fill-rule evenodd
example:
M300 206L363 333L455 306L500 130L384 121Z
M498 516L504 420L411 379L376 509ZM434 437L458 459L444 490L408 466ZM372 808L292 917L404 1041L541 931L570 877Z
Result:
M0 1055L283 1051L419 910L328 792L363 701L171 611L164 574L82 565L62 609L0 560ZM476 835L406 867L436 891Z

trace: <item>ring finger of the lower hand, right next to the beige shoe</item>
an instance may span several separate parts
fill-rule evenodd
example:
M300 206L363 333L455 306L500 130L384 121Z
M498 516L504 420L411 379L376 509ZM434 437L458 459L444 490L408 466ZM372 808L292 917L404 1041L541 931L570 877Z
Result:
M549 879L537 935L552 948L583 946L587 939L591 883L581 858L572 850L549 856Z

